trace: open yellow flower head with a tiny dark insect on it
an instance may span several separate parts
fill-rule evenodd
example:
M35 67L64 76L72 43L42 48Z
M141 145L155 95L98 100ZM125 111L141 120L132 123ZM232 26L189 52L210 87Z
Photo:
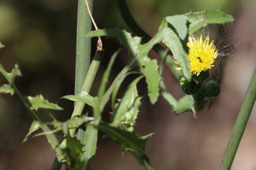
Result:
M199 76L201 71L215 66L214 61L218 56L218 50L213 40L209 43L209 36L204 40L203 35L199 38L189 36L187 46L189 47L190 70L194 75Z

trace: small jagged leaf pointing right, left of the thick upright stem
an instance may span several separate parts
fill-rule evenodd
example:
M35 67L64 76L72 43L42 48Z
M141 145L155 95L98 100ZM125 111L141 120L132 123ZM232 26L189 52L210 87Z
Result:
M31 104L31 109L32 110L37 110L37 109L52 109L52 110L62 110L61 107L59 107L56 104L50 103L48 102L44 96L37 95L35 97L32 96L28 96L26 97L29 101L29 103Z

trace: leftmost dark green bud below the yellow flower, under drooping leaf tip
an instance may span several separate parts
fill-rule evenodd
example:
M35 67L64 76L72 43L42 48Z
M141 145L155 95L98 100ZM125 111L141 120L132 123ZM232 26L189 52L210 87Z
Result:
M185 94L194 94L197 92L197 83L195 80L187 81L184 77L180 79L180 86Z

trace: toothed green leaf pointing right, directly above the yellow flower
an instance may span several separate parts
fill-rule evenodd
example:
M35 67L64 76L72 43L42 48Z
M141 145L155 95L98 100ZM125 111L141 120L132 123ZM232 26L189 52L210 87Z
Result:
M222 12L220 9L201 11L201 12L189 12L185 14L188 17L190 25L188 27L188 34L191 35L195 31L202 27L205 27L207 23L227 23L233 22L234 18L231 15Z

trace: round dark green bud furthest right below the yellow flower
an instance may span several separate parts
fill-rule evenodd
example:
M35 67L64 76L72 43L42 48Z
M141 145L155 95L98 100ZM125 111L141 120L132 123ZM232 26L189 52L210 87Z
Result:
M220 93L221 88L216 81L209 80L201 86L201 90L203 90L207 96L215 97Z

